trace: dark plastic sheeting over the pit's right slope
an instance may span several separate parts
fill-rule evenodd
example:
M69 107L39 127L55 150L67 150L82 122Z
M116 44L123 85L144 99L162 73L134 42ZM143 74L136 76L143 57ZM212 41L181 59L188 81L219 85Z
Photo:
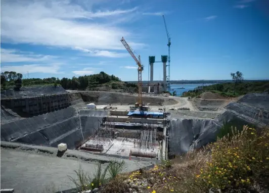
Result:
M263 127L269 123L269 94L251 93L237 103L226 106L226 112L210 119L171 119L169 125L169 154L180 155L201 148L216 140L223 123Z

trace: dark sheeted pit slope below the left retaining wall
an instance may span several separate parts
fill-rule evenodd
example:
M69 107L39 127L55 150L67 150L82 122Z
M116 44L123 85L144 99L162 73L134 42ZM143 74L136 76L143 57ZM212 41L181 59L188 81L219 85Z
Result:
M107 112L87 111L82 114L79 117L74 108L68 107L14 121L2 125L1 140L51 147L64 142L68 149L75 149L83 139L94 134L94 129L98 129Z

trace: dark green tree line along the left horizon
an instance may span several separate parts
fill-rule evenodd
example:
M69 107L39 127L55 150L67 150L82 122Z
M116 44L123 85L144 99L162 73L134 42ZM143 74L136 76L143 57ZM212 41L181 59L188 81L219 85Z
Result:
M22 86L33 86L33 85L61 85L65 89L79 89L85 90L86 88L94 88L103 84L111 83L112 88L117 88L118 82L121 80L114 76L108 75L105 72L99 74L85 75L72 78L23 78L21 73L17 72L3 72L1 73L1 89L12 87L18 79L22 79ZM125 82L127 87L137 87L136 84Z

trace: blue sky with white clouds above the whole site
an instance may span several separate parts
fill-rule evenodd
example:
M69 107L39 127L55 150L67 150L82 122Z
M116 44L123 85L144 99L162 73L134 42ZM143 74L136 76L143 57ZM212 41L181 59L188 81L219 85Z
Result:
M24 77L72 77L104 71L137 80L145 66L167 55L171 80L269 79L269 3L266 0L46 0L1 1L1 72ZM161 63L154 80L162 78Z

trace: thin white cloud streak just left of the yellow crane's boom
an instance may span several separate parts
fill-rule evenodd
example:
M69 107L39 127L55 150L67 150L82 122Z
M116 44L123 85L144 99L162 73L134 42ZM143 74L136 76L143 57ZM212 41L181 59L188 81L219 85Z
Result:
M99 51L99 50L88 50L83 49L82 47L75 47L75 50L80 50L85 53L89 53L89 56L96 56L96 57L108 57L108 58L122 58L128 56L128 53L117 53L111 51Z

